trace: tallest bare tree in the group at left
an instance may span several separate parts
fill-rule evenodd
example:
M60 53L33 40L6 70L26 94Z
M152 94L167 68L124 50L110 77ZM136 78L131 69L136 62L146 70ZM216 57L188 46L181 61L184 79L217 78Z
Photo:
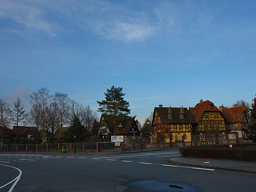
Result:
M37 105L38 108L40 109L40 115L41 115L41 120L40 120L40 129L43 130L43 140L44 142L44 134L45 134L45 127L46 127L46 108L49 106L51 100L52 100L52 95L50 95L50 90L47 89L46 87L40 88L37 90L37 92L32 92L30 95L30 102L32 105Z

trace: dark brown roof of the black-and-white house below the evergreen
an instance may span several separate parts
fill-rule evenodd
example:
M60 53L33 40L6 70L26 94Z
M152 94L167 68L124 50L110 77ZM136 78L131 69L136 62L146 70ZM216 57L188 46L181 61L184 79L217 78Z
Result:
M109 128L111 135L114 134L115 124L116 124L116 135L128 134L132 123L134 123L135 126L137 127L135 119L132 117L125 117L125 118L117 117L115 124L114 124L114 118L111 115L102 114L100 123L102 123L102 118L104 118L104 122L106 123L107 128ZM123 130L119 130L119 128L118 128L120 123L123 126ZM139 129L138 129L138 131L139 131Z

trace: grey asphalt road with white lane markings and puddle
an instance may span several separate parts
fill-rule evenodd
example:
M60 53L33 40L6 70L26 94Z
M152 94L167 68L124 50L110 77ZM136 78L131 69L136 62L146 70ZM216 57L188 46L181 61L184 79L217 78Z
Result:
M168 162L177 156L0 154L0 191L256 191L255 174Z

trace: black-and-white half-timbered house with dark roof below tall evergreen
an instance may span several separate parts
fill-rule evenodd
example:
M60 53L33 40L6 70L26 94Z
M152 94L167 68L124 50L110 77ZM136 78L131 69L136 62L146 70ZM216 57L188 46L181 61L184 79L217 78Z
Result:
M124 137L138 137L140 135L139 128L132 117L117 117L114 119L111 115L101 115L100 128L98 135L101 133L107 135L123 135Z

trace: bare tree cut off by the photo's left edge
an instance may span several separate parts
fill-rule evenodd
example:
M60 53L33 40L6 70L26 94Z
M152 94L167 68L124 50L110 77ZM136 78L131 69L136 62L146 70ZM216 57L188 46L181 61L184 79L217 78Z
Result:
M3 144L4 138L4 129L9 126L11 122L11 110L9 109L9 105L4 102L3 99L0 99L0 128L1 128L1 146Z

